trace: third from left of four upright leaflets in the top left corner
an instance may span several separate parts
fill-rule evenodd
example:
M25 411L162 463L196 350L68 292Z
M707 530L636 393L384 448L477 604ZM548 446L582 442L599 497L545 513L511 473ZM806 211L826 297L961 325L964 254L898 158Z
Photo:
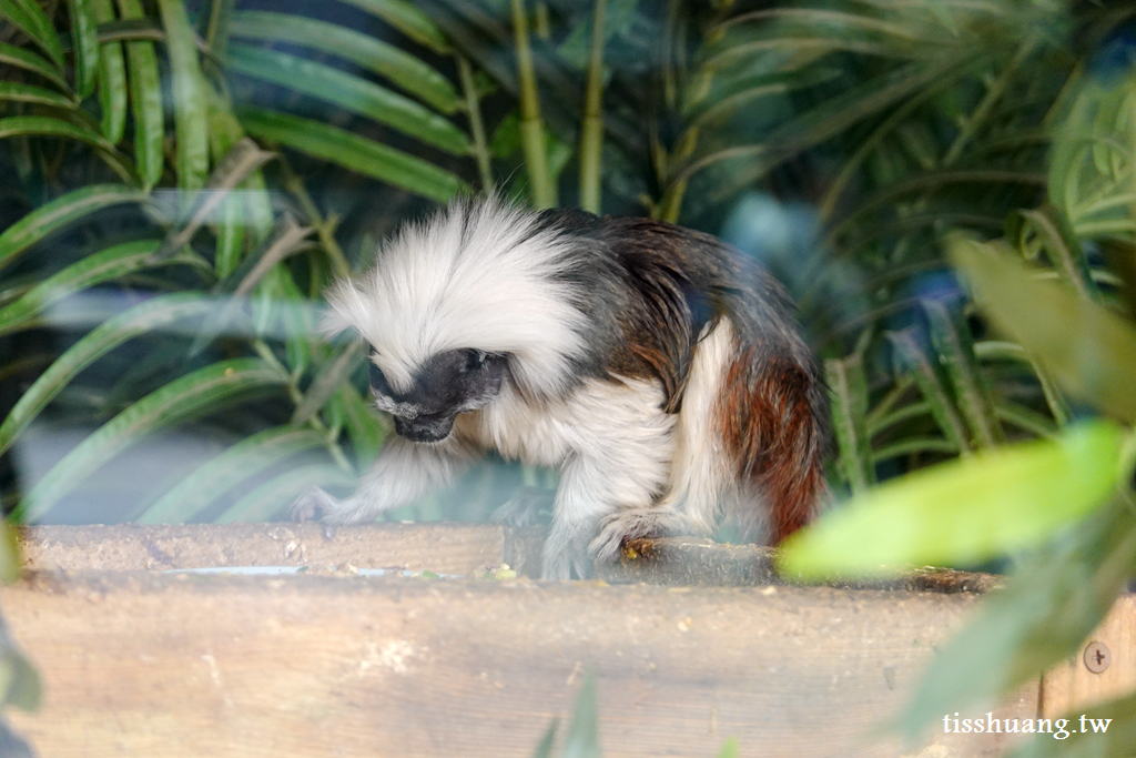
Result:
M141 0L118 0L118 9L124 20L145 18ZM161 75L158 72L153 42L127 42L126 64L130 72L131 115L134 117L134 160L143 185L150 189L161 181L165 169L162 139L166 135Z

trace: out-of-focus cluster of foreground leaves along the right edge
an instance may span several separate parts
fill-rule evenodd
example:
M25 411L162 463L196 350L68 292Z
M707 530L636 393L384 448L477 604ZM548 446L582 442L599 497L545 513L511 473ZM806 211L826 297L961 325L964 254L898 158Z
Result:
M1009 214L999 239L944 230L941 244L1049 393L1111 420L909 474L786 544L784 567L805 576L1016 558L1013 581L937 652L900 724L910 736L1075 655L1136 575L1136 73L1106 74L1079 81L1054 117L1047 200ZM1108 739L1035 739L1013 755L1131 755L1131 695L1094 708L1114 717Z

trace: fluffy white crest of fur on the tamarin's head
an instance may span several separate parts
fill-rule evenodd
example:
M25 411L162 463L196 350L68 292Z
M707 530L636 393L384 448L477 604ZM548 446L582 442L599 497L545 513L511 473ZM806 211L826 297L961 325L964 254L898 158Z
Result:
M354 328L391 386L406 391L440 352L508 353L516 380L537 394L570 384L586 316L565 280L571 241L499 199L457 202L408 224L375 266L328 294L327 331Z

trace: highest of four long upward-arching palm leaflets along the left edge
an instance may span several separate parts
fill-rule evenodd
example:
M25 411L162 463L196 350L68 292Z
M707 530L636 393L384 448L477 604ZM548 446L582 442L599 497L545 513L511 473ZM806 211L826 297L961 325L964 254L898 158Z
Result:
M19 300L0 308L0 335L26 326L48 306L74 292L100 282L115 280L145 268L158 249L156 240L139 240L116 244L83 259L43 280Z

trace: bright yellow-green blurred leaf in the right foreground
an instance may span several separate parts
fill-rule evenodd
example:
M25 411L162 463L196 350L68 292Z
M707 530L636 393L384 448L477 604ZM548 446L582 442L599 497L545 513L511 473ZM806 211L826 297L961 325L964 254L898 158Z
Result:
M822 577L972 564L1031 547L1097 507L1122 475L1124 433L1095 422L892 480L790 538L783 565Z

